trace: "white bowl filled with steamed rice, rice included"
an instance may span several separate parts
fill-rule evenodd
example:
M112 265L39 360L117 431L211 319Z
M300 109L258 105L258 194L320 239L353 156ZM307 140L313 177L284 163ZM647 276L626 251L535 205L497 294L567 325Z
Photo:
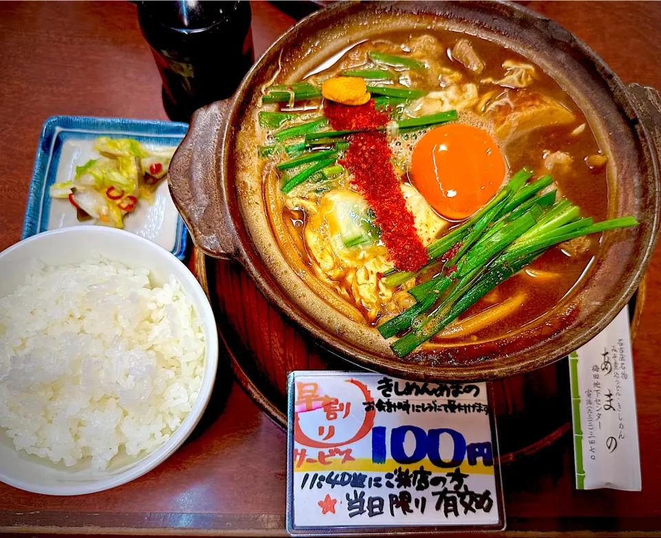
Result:
M175 256L94 226L0 253L0 480L81 495L147 473L202 417L211 305Z

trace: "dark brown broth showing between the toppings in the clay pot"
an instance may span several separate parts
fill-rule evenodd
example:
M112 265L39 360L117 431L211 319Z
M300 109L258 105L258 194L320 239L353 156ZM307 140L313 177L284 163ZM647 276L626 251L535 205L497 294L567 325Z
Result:
M366 58L368 50L379 50L387 54L397 54L397 51L393 50L393 44L397 45L399 43L403 52L409 52L408 48L411 43L419 39L422 35L430 35L430 33L409 34L393 32L384 34L381 39L374 39L350 48L334 65L322 71L313 72L313 74L308 75L306 80L318 82L339 73L344 68L360 68L361 60L363 60L363 64L368 63ZM507 50L500 45L483 39L470 37L469 39L474 50L486 65L485 70L481 74L474 74L462 68L456 61L451 63L448 54L446 54L448 48L451 49L458 39L465 38L463 34L434 32L432 35L437 38L437 43L434 43L434 40L427 40L429 44L429 56L424 56L424 59L429 63L434 63L438 59L439 65L444 67L452 66L452 68L463 74L462 83L476 83L479 86L480 94L483 94L487 90L501 90L498 86L483 84L481 80L488 77L500 79L504 72L502 67L503 61L509 59L531 63L512 50ZM560 196L565 196L571 203L579 205L583 217L591 216L594 220L603 220L607 217L606 168L602 167L598 170L591 170L584 162L586 156L596 154L600 151L594 134L591 132L589 125L586 125L582 133L571 134L578 125L587 123L585 116L576 103L571 100L569 95L551 77L543 73L536 65L535 70L536 80L532 84L532 91L548 96L565 105L567 109L574 113L576 121L570 125L543 127L525 136L521 136L521 138L512 141L506 147L501 147L510 175L524 166L534 169L536 171L535 177L550 174L555 180ZM412 87L430 88L431 83L424 79L424 75L420 76L414 73L412 79ZM552 170L547 171L544 165L544 156L548 152L557 151L569 153L573 158L573 162L565 167L556 166ZM406 180L406 177L404 180ZM304 212L285 208L283 209L282 217L286 221L286 228L289 234L291 234L293 242L301 250L304 261L307 265L310 265L311 255L306 252L303 238L303 224L306 219ZM452 223L452 226L457 224L459 223ZM589 263L598 249L598 240L598 236L589 238L587 250L574 256L569 256L569 253L564 251L560 246L550 249L541 258L538 258L530 268L546 271L547 273L552 273L554 276L546 279L532 278L522 271L500 284L494 291L487 294L485 298L463 313L459 318L459 322L480 313L488 307L492 307L494 304L498 304L505 298L512 297L517 293L524 293L525 300L520 307L504 318L470 335L463 335L458 338L437 338L437 342L447 344L482 342L525 329L532 321L558 308L563 298L571 291L589 267ZM419 282L427 280L432 275L433 272L428 271L428 274L420 278ZM338 291L344 291L345 293L343 295L346 294L348 300L353 302L350 287L347 287L346 282L337 282L336 289ZM359 304L355 303L355 306L359 310L364 311Z

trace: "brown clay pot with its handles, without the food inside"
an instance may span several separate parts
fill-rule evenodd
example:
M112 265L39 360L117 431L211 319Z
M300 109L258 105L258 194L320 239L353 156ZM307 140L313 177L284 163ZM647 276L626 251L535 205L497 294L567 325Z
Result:
M587 276L552 313L521 334L456 350L443 360L423 346L399 359L376 329L350 320L314 293L278 247L257 173L260 86L291 83L349 43L392 30L455 30L507 46L552 76L583 110L609 156L609 218L640 225L604 234ZM387 30L386 30L387 29ZM198 110L169 170L174 202L196 246L240 262L260 290L323 346L367 369L418 380L490 380L541 368L598 334L636 290L658 236L661 99L625 85L585 43L509 3L339 2L303 19L253 66L235 96ZM573 316L565 307L574 306ZM450 353L452 355L452 353Z

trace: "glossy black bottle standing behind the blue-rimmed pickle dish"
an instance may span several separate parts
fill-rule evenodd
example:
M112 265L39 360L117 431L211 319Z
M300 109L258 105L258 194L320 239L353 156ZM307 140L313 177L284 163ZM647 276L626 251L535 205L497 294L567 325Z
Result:
M138 19L163 81L171 120L227 99L254 61L251 10L242 1L138 1Z

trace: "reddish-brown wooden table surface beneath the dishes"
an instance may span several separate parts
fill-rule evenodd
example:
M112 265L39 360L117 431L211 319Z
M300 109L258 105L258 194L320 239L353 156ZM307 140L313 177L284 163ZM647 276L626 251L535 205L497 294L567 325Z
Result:
M661 3L527 6L578 34L625 82L661 88ZM270 3L252 7L255 51L261 54L295 21ZM0 74L1 250L21 238L46 118L167 118L158 72L130 3L0 3ZM634 345L642 493L576 491L565 435L505 468L505 535L661 534L654 532L661 529L661 459L655 455L661 444L660 280L657 254ZM0 484L0 529L284 535L285 474L284 432L221 370L202 424L165 464L135 482L83 497L46 497Z

